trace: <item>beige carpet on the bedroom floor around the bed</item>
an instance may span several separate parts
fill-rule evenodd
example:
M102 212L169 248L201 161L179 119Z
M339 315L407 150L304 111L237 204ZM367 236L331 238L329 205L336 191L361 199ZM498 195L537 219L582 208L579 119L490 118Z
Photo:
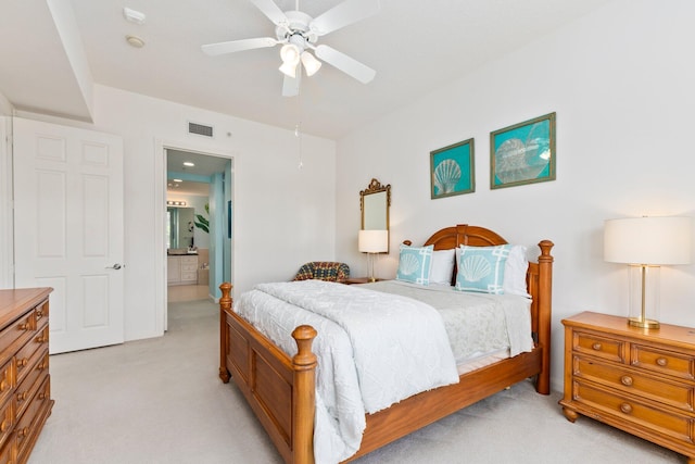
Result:
M51 356L55 406L29 463L281 463L217 377L217 324L212 303L174 303L164 337ZM522 383L356 463L686 462L589 418L571 424L558 400Z

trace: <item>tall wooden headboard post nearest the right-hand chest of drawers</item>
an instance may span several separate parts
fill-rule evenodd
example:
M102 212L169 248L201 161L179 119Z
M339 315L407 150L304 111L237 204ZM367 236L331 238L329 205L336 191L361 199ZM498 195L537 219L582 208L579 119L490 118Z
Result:
M535 390L541 394L551 393L551 308L553 304L553 256L551 249L555 246L551 240L539 243L539 287L540 294L547 296L539 300L539 344L543 347L541 372L535 384Z

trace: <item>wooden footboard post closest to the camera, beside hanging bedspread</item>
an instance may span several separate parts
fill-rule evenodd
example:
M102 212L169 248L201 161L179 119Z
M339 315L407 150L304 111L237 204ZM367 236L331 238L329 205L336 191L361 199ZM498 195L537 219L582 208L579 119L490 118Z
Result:
M316 354L312 352L312 343L316 338L316 330L312 326L302 325L292 331L292 338L296 341L298 348L298 353L292 358L294 371L294 387L292 389L293 462L313 464L317 361Z

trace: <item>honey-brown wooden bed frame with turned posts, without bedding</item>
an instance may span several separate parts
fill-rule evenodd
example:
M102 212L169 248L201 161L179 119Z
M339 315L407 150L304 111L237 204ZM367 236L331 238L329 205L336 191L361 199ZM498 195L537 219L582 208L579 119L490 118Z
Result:
M493 246L507 241L483 227L457 225L432 235L425 244L435 250L459 244ZM350 461L422 428L483 398L529 377L539 393L549 393L553 242L539 243L538 263L527 273L534 349L460 376L458 384L418 393L387 410L367 414L362 446ZM314 462L314 396L316 330L300 326L292 333L298 354L287 355L231 311L231 285L223 284L220 306L219 377L229 378L247 398L287 463Z

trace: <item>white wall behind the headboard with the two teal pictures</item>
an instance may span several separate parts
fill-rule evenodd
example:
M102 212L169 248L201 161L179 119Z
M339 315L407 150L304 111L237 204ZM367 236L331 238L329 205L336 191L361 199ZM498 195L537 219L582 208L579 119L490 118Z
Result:
M366 273L356 252L358 192L392 186L392 277L397 243L457 223L514 243L556 247L553 387L563 381L563 326L593 310L627 315L627 266L603 261L603 223L695 215L692 142L695 3L617 0L491 62L338 142L337 255ZM465 58L452 58L465 59ZM557 112L557 180L490 189L490 131ZM430 200L429 152L475 137L476 192ZM661 272L661 321L695 326L695 266Z

